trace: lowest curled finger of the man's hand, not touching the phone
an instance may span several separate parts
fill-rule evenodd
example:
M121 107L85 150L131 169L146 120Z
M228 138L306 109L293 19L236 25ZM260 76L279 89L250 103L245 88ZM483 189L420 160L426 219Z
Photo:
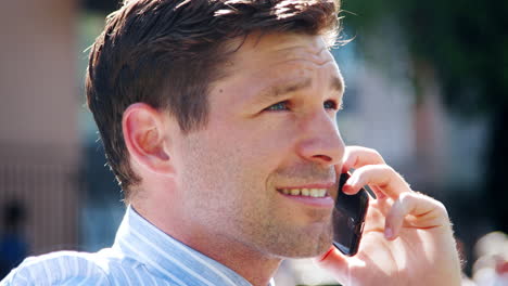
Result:
M403 193L390 209L385 224L384 236L395 239L401 233L405 218L411 214L411 225L418 229L434 229L447 224L448 213L444 205L429 196L419 193Z

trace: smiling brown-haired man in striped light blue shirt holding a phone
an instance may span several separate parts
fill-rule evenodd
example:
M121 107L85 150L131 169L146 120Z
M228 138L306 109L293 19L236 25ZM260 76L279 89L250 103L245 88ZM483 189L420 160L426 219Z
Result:
M344 146L333 0L131 0L90 52L88 106L127 210L114 245L28 258L0 285L269 285L316 257L345 285L459 285L445 207ZM359 252L332 243L338 174L370 185ZM306 190L306 191L304 191Z

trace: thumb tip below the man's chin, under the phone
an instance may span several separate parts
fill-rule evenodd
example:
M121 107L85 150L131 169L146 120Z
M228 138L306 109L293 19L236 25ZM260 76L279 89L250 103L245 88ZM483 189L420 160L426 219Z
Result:
M313 258L313 262L328 271L339 283L347 285L348 258L343 256L334 246L331 246L323 255Z

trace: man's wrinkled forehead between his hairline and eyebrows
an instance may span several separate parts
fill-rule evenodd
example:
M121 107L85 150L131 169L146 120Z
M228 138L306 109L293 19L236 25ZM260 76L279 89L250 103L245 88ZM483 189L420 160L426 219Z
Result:
M240 47L238 49L238 47ZM253 96L269 86L312 81L342 86L336 63L320 36L301 34L251 35L229 46L236 50L225 67L226 77L213 90L237 94L231 101ZM338 80L336 80L338 79ZM229 93L229 92L226 92Z

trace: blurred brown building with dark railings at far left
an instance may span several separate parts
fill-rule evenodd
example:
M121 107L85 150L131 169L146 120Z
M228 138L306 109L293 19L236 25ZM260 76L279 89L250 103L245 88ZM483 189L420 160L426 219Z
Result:
M31 253L77 244L76 13L68 0L0 9L0 206L27 208Z

